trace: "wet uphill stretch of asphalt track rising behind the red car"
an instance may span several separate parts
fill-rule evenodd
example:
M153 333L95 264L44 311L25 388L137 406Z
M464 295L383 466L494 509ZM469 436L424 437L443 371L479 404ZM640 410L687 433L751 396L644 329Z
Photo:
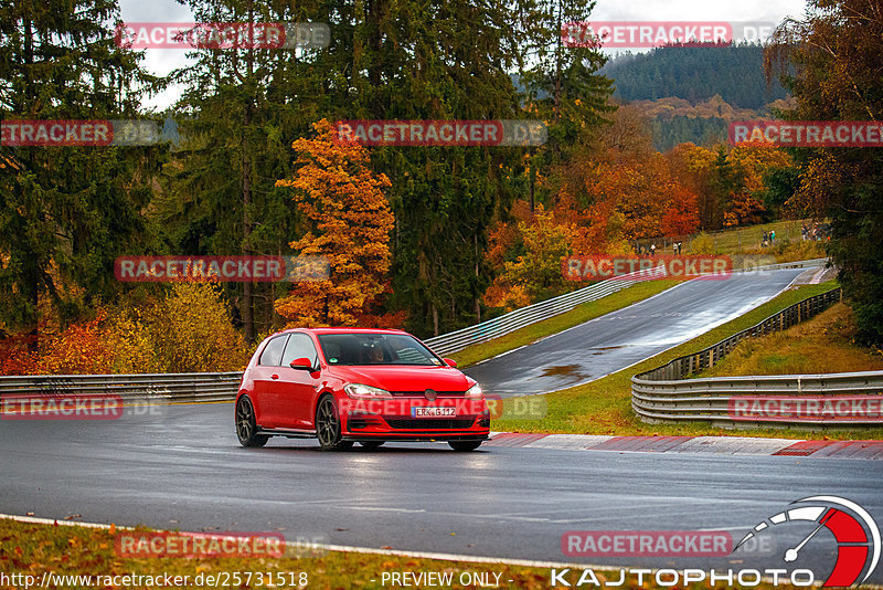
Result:
M804 272L789 268L690 281L464 372L500 397L574 387L725 324L769 301Z

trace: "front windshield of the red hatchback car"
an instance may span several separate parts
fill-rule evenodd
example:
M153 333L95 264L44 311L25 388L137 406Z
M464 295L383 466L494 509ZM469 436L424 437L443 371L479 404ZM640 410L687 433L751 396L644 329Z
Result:
M319 344L329 365L443 365L428 348L405 334L322 334Z

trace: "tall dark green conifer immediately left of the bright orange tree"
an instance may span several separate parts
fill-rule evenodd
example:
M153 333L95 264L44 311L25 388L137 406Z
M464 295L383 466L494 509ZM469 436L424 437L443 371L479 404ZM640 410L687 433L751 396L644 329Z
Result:
M333 11L315 0L180 3L203 23L328 22ZM292 172L291 139L333 116L322 96L329 56L321 48L273 49L259 40L254 45L194 49L169 76L182 86L175 110L185 115L185 141L174 166L166 167L164 198L151 204L177 252L278 255L299 235L288 196L274 185ZM273 327L273 302L283 294L278 284L226 283L224 291L246 340Z

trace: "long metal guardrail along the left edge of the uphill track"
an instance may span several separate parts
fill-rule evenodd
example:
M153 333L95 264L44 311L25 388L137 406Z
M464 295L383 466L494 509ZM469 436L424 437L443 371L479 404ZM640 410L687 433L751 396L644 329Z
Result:
M770 264L751 268L752 271L773 271L779 268L804 268L810 266L823 266L828 259L813 259L807 261L787 262L780 264ZM475 344L487 343L493 338L506 336L517 329L521 329L531 324L543 322L550 317L570 312L577 305L594 302L606 297L617 291L631 286L641 281L651 278L661 278L664 275L664 267L658 266L648 268L646 271L637 271L630 274L619 276L617 278L600 281L594 285L560 295L552 299L535 303L526 307L521 307L508 314L494 317L481 324L461 328L456 331L435 336L424 340L429 348L435 350L438 355L450 355L458 350L462 350L467 346Z

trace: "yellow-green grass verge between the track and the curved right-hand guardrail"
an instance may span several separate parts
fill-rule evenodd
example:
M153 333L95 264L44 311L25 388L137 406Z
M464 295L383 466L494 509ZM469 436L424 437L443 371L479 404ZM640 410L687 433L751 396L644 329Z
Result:
M812 432L804 429L724 430L708 422L684 424L646 424L631 410L631 376L664 365L677 357L706 348L795 303L836 287L831 281L819 285L802 285L781 293L774 299L747 314L719 326L702 336L639 362L603 379L564 391L543 396L546 415L539 420L497 420L493 430L508 432L549 432L571 434L613 435L738 435L774 436L783 439L883 439L883 429L827 430ZM506 400L507 404L517 403Z

